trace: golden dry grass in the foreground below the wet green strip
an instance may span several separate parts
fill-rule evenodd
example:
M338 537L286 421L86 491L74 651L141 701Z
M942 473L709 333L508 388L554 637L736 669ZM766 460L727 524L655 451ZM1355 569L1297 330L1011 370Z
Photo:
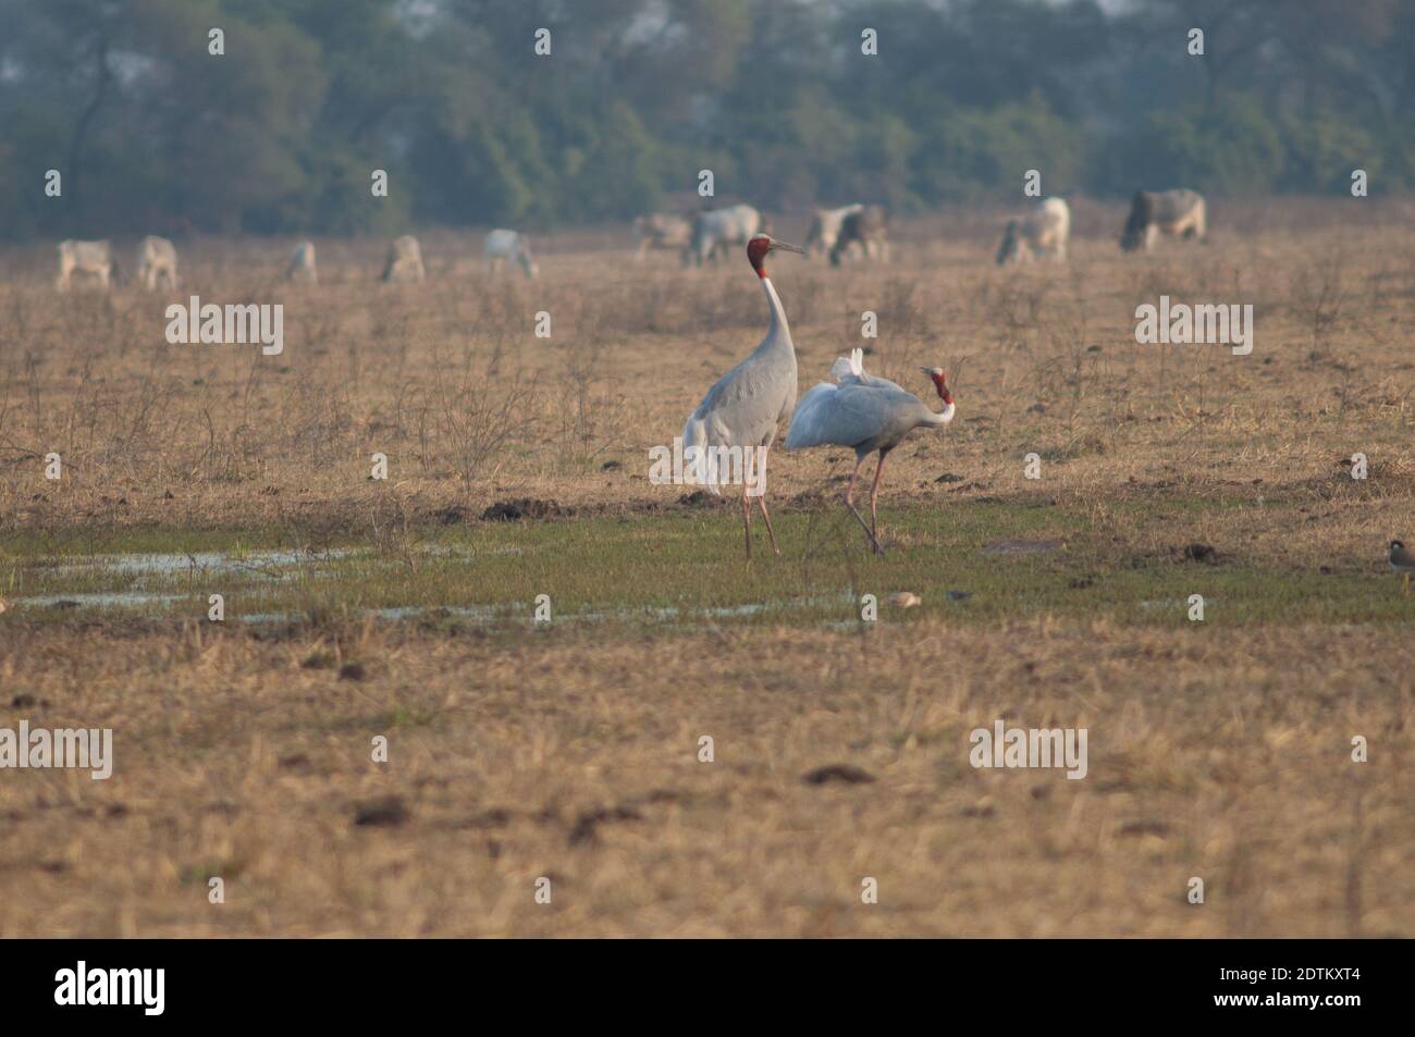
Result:
M507 644L383 628L331 645L188 627L11 648L6 686L23 675L31 723L113 726L117 767L6 774L7 935L1382 937L1415 921L1411 654L1378 631L1037 620ZM316 651L331 665L301 665ZM364 680L337 676L351 661ZM968 731L998 717L1087 727L1090 774L972 770ZM386 765L369 760L379 733ZM1353 734L1368 764L1350 763ZM874 781L804 781L832 764ZM385 796L406 819L354 823Z

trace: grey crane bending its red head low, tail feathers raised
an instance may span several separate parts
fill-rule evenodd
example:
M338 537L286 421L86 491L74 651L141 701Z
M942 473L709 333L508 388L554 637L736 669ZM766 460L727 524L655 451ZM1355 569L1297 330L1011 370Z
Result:
M859 521L876 555L884 549L879 540L879 515L874 509L880 492L880 473L884 456L900 444L914 429L938 429L954 420L954 393L942 368L920 368L934 382L941 412L930 410L924 400L894 385L887 378L865 373L863 352L855 349L850 358L841 357L831 366L833 382L821 382L801 398L791 427L787 430L787 450L802 450L832 444L855 450L855 470L845 487L845 506ZM855 478L865 458L879 453L874 481L870 484L870 525L855 508Z

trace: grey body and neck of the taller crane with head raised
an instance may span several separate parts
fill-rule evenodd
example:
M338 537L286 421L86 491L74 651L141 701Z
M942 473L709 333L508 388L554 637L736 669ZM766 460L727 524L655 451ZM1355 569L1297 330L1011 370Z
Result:
M791 328L775 289L766 277L761 284L771 307L771 327L747 359L708 390L703 402L683 426L683 450L698 447L703 458L699 482L719 494L726 471L712 463L705 447L770 447L781 422L790 420L797 402L795 347Z

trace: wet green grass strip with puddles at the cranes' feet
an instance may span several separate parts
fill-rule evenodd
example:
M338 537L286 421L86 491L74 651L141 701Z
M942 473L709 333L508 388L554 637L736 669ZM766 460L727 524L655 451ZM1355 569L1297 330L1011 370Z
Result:
M1231 506L1220 499L1207 509ZM1186 501L1148 514L1135 505L1133 514L1167 529L1176 514L1199 511ZM1415 617L1415 598L1402 598L1394 577L1126 552L1091 526L1084 502L910 506L882 512L882 522L884 559L867 552L836 505L782 512L782 555L771 555L757 521L750 563L733 508L436 526L378 546L314 552L290 550L287 531L11 535L3 540L0 596L11 601L7 618L25 620L205 618L209 596L222 594L228 621L327 624L375 614L490 628L531 625L542 594L552 624L645 628L849 624L860 620L865 594L890 621L990 624L1046 614L1187 625L1193 594L1204 597L1210 625ZM1022 550L1051 540L1065 546ZM988 549L999 542L1015 550ZM171 557L151 563L149 552ZM894 591L923 604L890 608Z

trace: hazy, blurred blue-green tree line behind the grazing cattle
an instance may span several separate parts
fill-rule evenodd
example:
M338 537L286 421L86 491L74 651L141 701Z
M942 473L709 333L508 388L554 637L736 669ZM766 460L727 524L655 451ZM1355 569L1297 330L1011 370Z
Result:
M1415 185L1412 0L0 0L0 25L3 238L545 229L696 205L700 168L782 211L1020 199L1029 168Z

